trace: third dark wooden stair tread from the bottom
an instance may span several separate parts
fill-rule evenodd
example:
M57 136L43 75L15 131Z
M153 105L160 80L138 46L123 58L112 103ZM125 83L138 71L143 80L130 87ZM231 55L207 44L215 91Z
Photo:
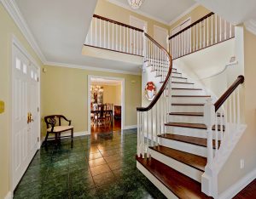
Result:
M203 138L197 138L197 137L191 137L191 136L185 136L185 135L179 135L179 134L160 134L160 138L164 139L172 139L179 142L184 142L192 145L199 145L203 147L207 147L207 139ZM220 141L218 140L218 147L220 145ZM212 147L215 149L215 140L212 140Z

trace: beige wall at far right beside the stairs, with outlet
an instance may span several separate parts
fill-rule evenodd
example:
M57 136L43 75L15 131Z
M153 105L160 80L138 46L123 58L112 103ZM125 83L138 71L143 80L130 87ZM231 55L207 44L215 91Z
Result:
M245 120L247 124L246 132L236 145L234 151L225 163L224 168L218 175L218 192L221 193L239 179L245 177L256 168L256 36L245 31L245 82L243 85L245 92ZM245 168L240 168L240 160L244 159ZM251 176L253 177L253 176Z

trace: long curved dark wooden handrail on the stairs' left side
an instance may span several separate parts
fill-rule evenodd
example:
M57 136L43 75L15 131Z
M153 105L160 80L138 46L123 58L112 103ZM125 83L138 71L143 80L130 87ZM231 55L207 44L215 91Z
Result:
M172 74L172 55L167 52L166 48L162 47L159 43L157 43L154 40L154 38L150 37L147 33L144 33L144 34L146 37L148 37L149 40L151 40L151 42L153 42L157 47L159 47L161 50L163 50L168 55L169 60L170 60L170 65L169 65L169 71L166 76L166 80L162 84L159 92L155 95L154 99L151 101L151 103L147 107L137 107L137 111L140 111L140 112L149 111L153 108L153 106L156 104L158 99L160 99L160 96L164 93L166 86L169 82L169 79L171 77L171 74Z

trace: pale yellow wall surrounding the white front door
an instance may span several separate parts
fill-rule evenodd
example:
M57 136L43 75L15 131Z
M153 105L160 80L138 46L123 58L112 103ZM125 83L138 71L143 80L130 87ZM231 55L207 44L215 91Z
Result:
M18 38L20 43L26 48L29 54L41 65L37 55L27 43L26 38L20 32L20 29L15 26L15 22L11 19L7 11L0 3L0 100L5 102L5 112L0 114L0 198L4 198L9 192L9 111L10 111L10 90L9 90L9 75L11 69L11 47L12 35Z

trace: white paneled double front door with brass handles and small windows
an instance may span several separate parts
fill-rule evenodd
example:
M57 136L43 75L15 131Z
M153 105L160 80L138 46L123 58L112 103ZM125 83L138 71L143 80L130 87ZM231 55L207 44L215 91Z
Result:
M18 185L38 150L38 69L14 45L12 77L12 177Z

